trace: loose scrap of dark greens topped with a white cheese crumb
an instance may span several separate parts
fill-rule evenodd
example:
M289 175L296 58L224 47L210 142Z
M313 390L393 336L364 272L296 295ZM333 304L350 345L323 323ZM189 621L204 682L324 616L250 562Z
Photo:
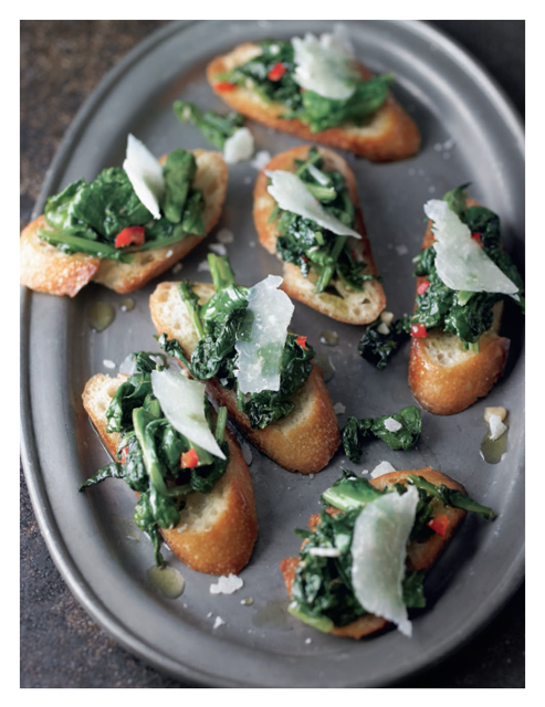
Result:
M399 430L388 430L385 424L387 420L394 420L399 424ZM410 450L418 442L421 431L420 409L415 405L408 405L398 413L395 412L381 418L358 419L350 416L343 430L343 447L350 462L357 464L369 437L375 436L382 440L390 450Z

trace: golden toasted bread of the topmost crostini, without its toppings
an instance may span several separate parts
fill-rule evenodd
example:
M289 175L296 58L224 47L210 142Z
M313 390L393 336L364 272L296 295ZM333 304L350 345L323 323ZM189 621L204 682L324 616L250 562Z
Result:
M229 54L217 56L207 67L207 77L218 95L239 113L268 125L271 128L290 133L312 143L322 143L338 149L348 150L373 162L388 162L406 159L416 155L420 148L420 134L407 113L390 94L385 104L375 113L369 124L357 127L343 125L321 133L311 133L310 128L295 118L281 116L287 110L281 103L268 103L251 88L237 86L233 91L216 89L217 75L231 71L258 56L258 44L244 43L235 46ZM361 78L370 78L371 72L358 64Z

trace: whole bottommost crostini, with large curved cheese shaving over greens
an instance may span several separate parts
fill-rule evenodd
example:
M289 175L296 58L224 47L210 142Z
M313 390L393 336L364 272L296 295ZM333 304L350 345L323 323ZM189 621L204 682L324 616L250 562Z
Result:
M430 467L370 482L344 472L322 495L298 557L281 563L289 612L334 635L361 639L389 623L407 636L426 606L426 572L465 513L493 519L461 484Z

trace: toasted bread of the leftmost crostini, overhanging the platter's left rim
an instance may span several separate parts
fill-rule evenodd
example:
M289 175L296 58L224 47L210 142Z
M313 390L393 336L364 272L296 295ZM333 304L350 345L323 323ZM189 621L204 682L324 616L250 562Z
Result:
M205 226L209 233L221 215L228 169L220 152L193 150L193 155L197 160L193 184L205 197ZM165 163L166 159L164 156L159 161ZM139 289L185 257L205 238L188 235L174 245L135 253L130 263L117 263L83 253L67 255L38 236L38 230L45 228L45 219L41 215L21 233L21 284L36 292L70 297L91 281L119 294Z

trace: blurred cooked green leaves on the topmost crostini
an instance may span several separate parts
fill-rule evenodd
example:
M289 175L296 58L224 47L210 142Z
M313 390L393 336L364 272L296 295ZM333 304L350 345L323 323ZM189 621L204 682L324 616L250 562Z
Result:
M286 107L284 118L296 118L318 133L338 125L361 126L388 97L394 82L391 74L373 76L355 82L354 93L344 101L325 98L314 91L303 91L295 82L294 50L291 41L265 40L260 43L261 53L230 72L216 76L238 86L255 91L268 103L282 103ZM280 78L270 78L271 70L285 67ZM274 76L274 72L273 72Z

